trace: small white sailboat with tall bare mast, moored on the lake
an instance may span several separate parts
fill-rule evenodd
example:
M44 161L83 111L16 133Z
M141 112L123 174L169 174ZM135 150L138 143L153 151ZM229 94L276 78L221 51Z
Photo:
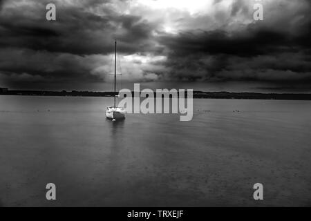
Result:
M113 93L113 106L107 106L106 109L106 118L111 119L112 121L124 120L125 113L124 108L115 106L115 97L117 97L116 90L116 80L117 80L117 41L115 41L115 86Z

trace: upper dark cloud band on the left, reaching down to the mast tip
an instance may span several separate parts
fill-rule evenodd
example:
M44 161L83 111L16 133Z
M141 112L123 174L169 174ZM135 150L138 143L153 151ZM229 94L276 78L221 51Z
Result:
M121 40L121 52L136 52L144 49L142 45L150 45L148 38L154 27L141 17L115 16L112 8L105 8L104 15L95 15L86 11L89 5L82 4L57 8L57 21L49 22L45 6L43 1L35 10L26 5L21 7L22 12L11 9L10 15L0 15L0 46L91 55L111 52L115 38ZM29 17L28 10L35 15Z

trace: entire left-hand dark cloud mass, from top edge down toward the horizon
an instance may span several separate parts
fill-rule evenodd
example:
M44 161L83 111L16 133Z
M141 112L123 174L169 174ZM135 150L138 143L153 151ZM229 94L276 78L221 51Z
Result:
M114 39L124 54L157 50L151 38L156 24L122 15L109 1L57 2L57 21L46 21L49 2L29 1L0 13L0 80L6 84L102 81L111 61L101 56L113 52Z

